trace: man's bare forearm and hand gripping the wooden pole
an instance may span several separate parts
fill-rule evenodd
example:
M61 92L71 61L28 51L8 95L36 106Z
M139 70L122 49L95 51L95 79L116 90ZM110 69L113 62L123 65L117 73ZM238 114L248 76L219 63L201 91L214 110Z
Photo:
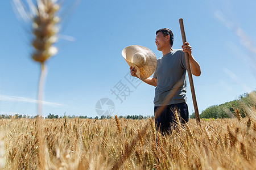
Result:
M188 42L185 42L184 45L182 45L181 47L182 47L184 53L187 52L189 54L191 73L195 76L200 76L201 68L200 68L199 63L192 56L192 47L188 44Z

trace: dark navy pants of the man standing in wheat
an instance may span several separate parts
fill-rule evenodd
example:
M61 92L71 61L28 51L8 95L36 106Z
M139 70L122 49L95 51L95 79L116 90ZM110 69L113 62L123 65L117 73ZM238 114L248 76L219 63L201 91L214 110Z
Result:
M159 109L159 107L154 108L155 113L157 109ZM179 114L181 124L188 122L188 104L186 102L170 104L167 105L163 112L155 119L155 126L157 130L160 130L162 133L170 133L175 121L175 109Z

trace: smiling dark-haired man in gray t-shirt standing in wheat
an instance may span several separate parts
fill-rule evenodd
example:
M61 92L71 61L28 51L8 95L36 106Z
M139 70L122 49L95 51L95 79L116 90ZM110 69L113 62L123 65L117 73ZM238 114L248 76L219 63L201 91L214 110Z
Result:
M191 63L191 73L195 76L200 76L201 69L199 63L192 56L192 48L188 42L185 42L181 49L172 49L174 43L174 35L168 28L162 28L156 31L155 44L163 56L158 59L153 78L147 78L143 82L155 86L155 114L160 107L163 111L156 117L156 128L164 132L168 132L172 127L174 120L174 110L176 109L181 118L181 122L188 122L188 105L187 105L187 83L186 83L186 70L185 52L189 54L189 61ZM132 76L138 77L135 73L137 70L130 67ZM182 82L178 88L174 88L177 82ZM178 83L177 83L178 84ZM177 90L171 100L167 100L170 91ZM166 104L167 103L167 104Z

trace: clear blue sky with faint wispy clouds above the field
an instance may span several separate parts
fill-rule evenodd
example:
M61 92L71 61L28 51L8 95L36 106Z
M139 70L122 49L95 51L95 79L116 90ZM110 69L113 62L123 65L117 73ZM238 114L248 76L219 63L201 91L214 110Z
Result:
M174 49L181 48L180 18L201 66L201 76L193 76L200 113L256 88L256 1L81 0L75 10L68 8L73 1L66 3L59 53L47 62L43 116L96 117L103 98L113 101L112 114L153 115L155 87L129 83L121 52L142 45L161 57L155 45L160 28L170 28ZM16 18L11 1L0 2L0 15L0 114L36 115L40 65L30 57L30 25ZM120 85L126 96L118 99L111 90ZM189 83L187 96L192 114Z

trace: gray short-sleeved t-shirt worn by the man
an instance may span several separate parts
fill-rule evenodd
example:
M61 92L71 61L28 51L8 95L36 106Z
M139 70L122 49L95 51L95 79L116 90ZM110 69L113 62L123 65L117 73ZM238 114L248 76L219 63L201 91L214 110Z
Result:
M170 53L158 59L153 77L158 79L158 86L155 88L154 104L156 107L164 105L164 99L168 96L175 84L181 80L184 82L176 94L166 105L178 104L187 101L186 62L182 49L172 50Z

